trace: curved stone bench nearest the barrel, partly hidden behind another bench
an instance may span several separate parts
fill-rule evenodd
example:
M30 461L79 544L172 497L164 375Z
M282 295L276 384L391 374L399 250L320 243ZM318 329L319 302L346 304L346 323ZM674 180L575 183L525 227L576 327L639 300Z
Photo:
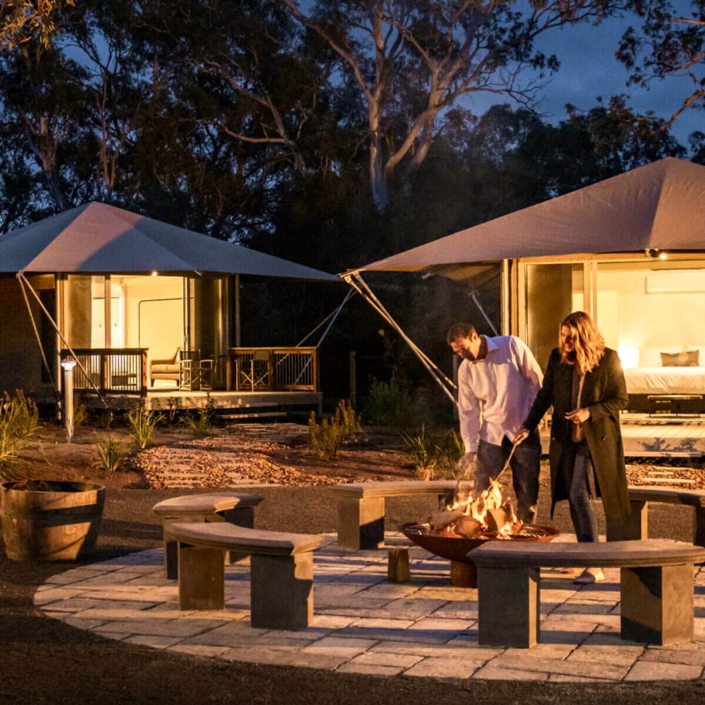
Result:
M255 507L264 499L258 494L241 492L218 492L208 494L187 494L171 497L154 505L152 511L166 525L173 522L228 522L242 527L255 525ZM241 556L235 553L226 555L233 563ZM167 541L164 536L164 572L169 580L178 577L178 552L175 541Z

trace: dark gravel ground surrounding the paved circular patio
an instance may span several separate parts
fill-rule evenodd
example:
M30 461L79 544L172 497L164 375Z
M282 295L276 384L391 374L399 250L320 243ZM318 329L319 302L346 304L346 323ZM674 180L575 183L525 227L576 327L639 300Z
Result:
M157 546L161 528L152 505L179 494L183 491L110 490L99 555L88 562ZM257 527L311 533L335 528L335 502L324 487L266 488L262 494L266 501L257 510ZM538 520L548 522L547 494L543 499ZM428 498L388 500L388 517L396 526L432 508ZM650 520L651 537L690 537L692 518L687 508L655 505ZM567 508L559 508L553 525L570 530ZM49 575L74 565L13 563L4 553L0 556L0 703L604 705L642 700L670 705L705 698L701 681L572 685L412 680L164 654L44 618L32 605L35 589Z

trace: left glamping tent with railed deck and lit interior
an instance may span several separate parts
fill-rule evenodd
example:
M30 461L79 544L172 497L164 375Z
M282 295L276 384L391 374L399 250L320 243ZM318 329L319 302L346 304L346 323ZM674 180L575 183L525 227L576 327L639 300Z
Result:
M339 281L97 202L2 235L0 390L51 398L71 354L102 394L317 393L315 348L240 348L240 274Z

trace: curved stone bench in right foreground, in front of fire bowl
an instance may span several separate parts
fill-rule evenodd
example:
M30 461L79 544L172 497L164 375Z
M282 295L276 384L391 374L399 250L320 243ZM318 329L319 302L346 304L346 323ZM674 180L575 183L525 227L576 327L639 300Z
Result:
M621 568L621 637L692 640L693 566L705 548L643 539L532 544L489 541L467 554L477 566L480 644L529 648L539 640L540 568Z

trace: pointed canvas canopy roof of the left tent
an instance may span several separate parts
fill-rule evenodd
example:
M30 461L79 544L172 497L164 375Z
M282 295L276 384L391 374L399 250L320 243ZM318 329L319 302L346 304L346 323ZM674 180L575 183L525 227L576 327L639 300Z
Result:
M332 274L91 202L0 237L0 272L256 274L339 281Z

